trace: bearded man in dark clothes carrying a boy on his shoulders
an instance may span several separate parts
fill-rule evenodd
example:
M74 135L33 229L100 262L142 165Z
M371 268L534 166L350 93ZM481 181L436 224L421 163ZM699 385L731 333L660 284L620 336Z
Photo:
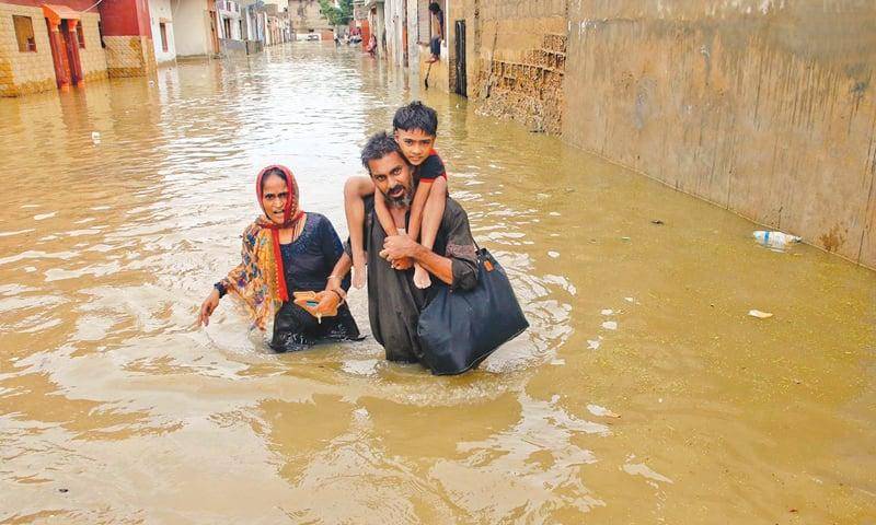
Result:
M477 284L476 250L469 217L456 200L448 197L433 249L407 235L387 236L374 212L373 199L385 199L395 226L406 230L416 190L413 168L395 140L385 132L368 140L361 159L377 188L377 194L365 202L362 235L371 332L385 349L388 360L422 361L417 322L439 285L426 290L417 288L412 267L417 262L451 289L474 288ZM346 277L349 272L353 264L349 243L345 249L332 271L333 276Z

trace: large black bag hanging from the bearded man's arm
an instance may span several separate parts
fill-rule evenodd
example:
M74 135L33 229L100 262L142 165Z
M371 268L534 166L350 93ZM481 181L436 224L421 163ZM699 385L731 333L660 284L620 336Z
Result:
M529 328L505 269L477 250L477 285L442 287L419 314L423 361L435 375L461 374Z

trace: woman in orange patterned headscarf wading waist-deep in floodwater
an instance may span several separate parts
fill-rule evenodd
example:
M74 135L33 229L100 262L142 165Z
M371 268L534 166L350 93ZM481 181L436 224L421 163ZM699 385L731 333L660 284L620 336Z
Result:
M275 315L270 347L276 351L299 350L321 339L358 339L344 302L349 280L331 275L344 253L332 223L301 211L298 184L287 167L262 170L255 189L265 214L244 230L241 264L214 285L198 323L206 326L230 292L243 300L260 329Z

